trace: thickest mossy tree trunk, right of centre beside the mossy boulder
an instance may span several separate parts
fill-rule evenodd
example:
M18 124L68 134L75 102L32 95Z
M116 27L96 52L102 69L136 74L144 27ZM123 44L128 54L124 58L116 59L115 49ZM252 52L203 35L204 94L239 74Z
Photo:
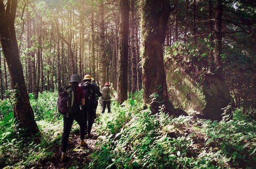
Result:
M153 113L159 112L159 107L166 112L173 111L173 105L168 98L164 57L162 44L166 35L166 24L171 13L169 0L142 0L142 87L144 102L150 103ZM155 99L150 96L156 93Z

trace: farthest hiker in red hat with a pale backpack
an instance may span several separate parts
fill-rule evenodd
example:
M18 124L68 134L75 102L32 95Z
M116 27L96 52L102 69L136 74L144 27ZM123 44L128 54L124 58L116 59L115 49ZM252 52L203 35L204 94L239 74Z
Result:
M111 96L114 96L114 93L112 91L112 89L110 88L110 84L108 82L105 83L104 87L101 89L102 91L102 114L105 112L106 106L108 107L108 113L110 113L110 99Z

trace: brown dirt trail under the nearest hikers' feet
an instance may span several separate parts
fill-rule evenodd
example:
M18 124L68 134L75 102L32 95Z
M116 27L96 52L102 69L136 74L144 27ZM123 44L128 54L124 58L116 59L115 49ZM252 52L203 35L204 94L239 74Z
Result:
M38 166L34 167L35 169L68 169L70 167L74 167L76 169L81 169L79 166L88 166L90 161L91 153L95 150L95 143L97 141L97 133L95 133L95 129L92 128L91 131L92 138L85 138L85 142L88 147L81 147L79 145L80 138L79 133L72 133L70 135L70 140L68 142L67 147L67 160L61 160L61 144L56 145L52 150L53 155L49 160L43 160ZM86 136L85 136L86 137ZM85 165L85 163L87 165Z

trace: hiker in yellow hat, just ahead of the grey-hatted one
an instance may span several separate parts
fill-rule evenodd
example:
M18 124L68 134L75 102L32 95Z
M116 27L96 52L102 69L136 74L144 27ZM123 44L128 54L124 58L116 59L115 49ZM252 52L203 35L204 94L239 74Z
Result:
M81 83L81 88L83 89L83 93L85 96L85 105L83 105L81 108L84 113L85 128L87 129L86 131L87 138L92 137L91 130L92 130L92 119L94 115L95 95L97 94L98 97L101 96L101 92L99 91L99 89L96 86L92 85L91 82L92 82L92 77L90 75L85 75Z

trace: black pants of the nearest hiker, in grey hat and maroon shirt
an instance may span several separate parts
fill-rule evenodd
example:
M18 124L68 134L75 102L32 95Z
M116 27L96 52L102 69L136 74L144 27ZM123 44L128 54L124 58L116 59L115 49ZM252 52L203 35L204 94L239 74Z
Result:
M69 113L69 116L67 118L66 115L63 115L63 135L61 138L61 151L66 152L67 151L67 142L68 138L70 136L70 131L73 125L74 120L78 122L80 127L80 139L83 140L85 137L85 120L83 117L83 112L78 111L76 113Z

